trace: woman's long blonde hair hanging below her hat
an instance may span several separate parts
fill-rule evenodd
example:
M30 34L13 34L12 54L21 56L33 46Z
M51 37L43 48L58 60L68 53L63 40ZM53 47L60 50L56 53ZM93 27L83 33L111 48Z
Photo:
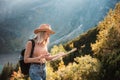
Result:
M49 38L45 39L45 31L38 32L35 37L35 41L37 44L47 45L49 43Z

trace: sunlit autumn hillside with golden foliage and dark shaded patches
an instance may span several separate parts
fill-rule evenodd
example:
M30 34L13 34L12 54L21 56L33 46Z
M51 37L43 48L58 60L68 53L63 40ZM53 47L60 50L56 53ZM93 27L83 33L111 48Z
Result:
M47 64L47 80L120 80L120 2L95 28L65 44L54 45L51 53L69 51L74 47L78 49L76 52L51 62L55 66ZM0 79L9 77L12 80L24 78L20 69L13 70L8 64Z

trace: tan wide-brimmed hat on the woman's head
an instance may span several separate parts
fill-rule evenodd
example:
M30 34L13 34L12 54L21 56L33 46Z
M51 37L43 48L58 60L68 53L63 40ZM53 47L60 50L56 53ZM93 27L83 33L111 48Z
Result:
M37 34L41 31L47 31L50 34L54 34L55 32L51 29L49 24L41 24L37 29L34 30L34 33Z

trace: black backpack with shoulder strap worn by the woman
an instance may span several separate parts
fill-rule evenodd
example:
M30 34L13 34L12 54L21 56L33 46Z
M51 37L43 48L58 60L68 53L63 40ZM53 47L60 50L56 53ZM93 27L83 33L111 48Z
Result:
M29 41L32 41L32 49L31 49L31 53L30 53L30 57L32 57L33 51L34 51L35 42L34 42L33 39L31 39ZM25 49L23 49L21 51L19 64L20 64L21 72L24 75L29 75L29 68L30 68L30 64L31 63L24 63L24 53L25 53Z

